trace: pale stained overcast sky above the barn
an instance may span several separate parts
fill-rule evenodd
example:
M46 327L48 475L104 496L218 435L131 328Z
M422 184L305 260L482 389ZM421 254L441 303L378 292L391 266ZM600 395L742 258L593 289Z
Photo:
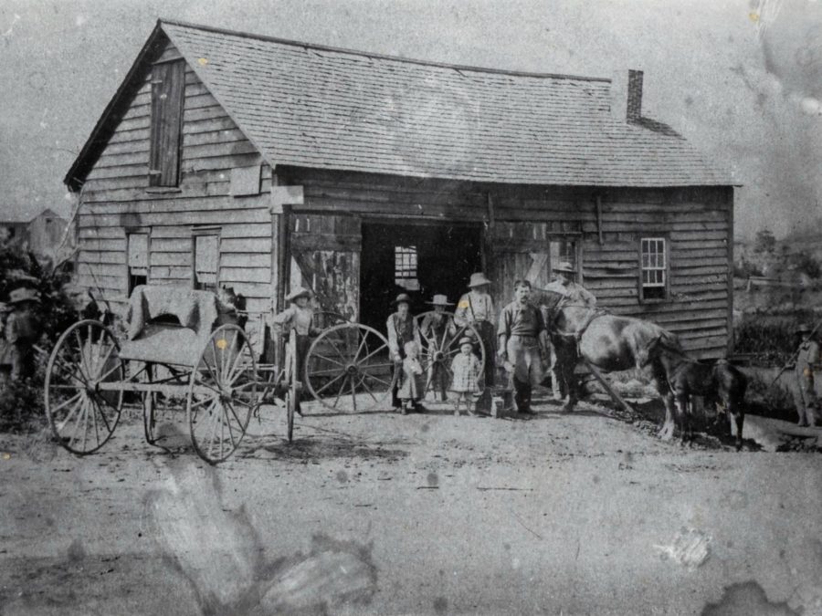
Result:
M0 0L0 206L62 178L157 17L482 67L645 71L645 115L734 172L736 233L819 221L822 0Z

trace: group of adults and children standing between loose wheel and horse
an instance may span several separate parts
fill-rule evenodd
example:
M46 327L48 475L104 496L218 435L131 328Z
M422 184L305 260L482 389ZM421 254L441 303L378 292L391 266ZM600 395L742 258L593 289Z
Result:
M587 308L595 308L594 296L574 282L574 267L563 262L553 267L554 280L545 290L556 293L564 302ZM567 390L562 371L557 365L557 357L548 337L546 318L543 310L531 301L532 285L528 280L514 282L514 298L501 309L499 316L490 296L491 281L483 274L473 274L469 280L469 292L457 303L451 320L445 309L453 304L443 295L434 296L428 304L434 311L423 319L417 327L410 314L411 298L401 293L395 298L396 311L392 313L385 328L391 359L399 378L392 392L392 404L401 412L425 411L422 404L426 393L425 375L419 361L423 350L422 339L427 339L429 356L442 353L437 340L445 339L443 333L452 336L459 329L469 326L466 331L476 331L485 349L485 365L481 365L476 354L476 340L465 336L458 340L459 354L450 364L451 382L448 389L454 393L455 414L462 406L473 414L483 393L495 384L495 374L499 367L511 379L514 389L514 403L518 412L532 412L532 389L544 379L543 364L551 356L553 394L562 400ZM428 382L435 392L441 392L443 399L446 372L437 364L436 357L429 357ZM490 402L487 393L485 399Z

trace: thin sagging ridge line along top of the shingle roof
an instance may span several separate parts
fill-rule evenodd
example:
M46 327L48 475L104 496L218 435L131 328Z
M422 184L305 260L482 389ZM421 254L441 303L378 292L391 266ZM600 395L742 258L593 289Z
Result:
M180 21L177 19L163 19L160 17L157 20L160 24L168 24L169 26L182 26L195 28L196 30L204 30L205 32L215 32L217 34L225 34L234 37L253 38L257 40L269 41L271 43L279 43L281 45L290 45L292 47L303 47L306 49L317 49L320 51L332 51L336 53L351 54L360 57L376 57L383 60L394 60L395 62L407 62L410 64L419 64L427 67L437 68L452 68L454 70L469 70L477 73L494 73L498 75L511 75L514 77L533 77L533 78L553 78L553 79L576 79L581 81L597 81L610 83L611 78L606 77L586 77L585 75L569 75L564 73L537 73L524 70L506 70L505 68L488 68L488 67L471 67L462 64L449 64L446 62L434 62L433 60L421 60L413 57L391 56L388 54L378 54L368 51L361 51L358 49L349 49L346 47L332 47L329 45L319 45L315 43L306 43L304 41L296 41L290 38L270 37L268 35L258 35L251 32L243 32L241 30L231 30L228 28L216 26L204 26L202 24L194 24L191 22Z

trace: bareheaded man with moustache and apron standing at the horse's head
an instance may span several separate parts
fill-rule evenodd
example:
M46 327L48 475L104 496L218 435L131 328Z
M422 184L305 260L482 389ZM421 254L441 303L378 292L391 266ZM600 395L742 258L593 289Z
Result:
M518 412L532 412L531 392L543 381L543 356L548 350L548 331L543 314L529 301L531 283L514 282L514 300L500 313L500 363L513 369L514 402Z

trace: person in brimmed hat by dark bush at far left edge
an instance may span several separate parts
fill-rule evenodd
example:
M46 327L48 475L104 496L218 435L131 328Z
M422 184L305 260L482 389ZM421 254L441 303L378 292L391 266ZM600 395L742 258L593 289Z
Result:
M11 367L9 377L13 383L34 374L34 344L40 338L34 307L39 303L39 294L31 288L16 288L8 296L12 313L5 323L4 362Z

